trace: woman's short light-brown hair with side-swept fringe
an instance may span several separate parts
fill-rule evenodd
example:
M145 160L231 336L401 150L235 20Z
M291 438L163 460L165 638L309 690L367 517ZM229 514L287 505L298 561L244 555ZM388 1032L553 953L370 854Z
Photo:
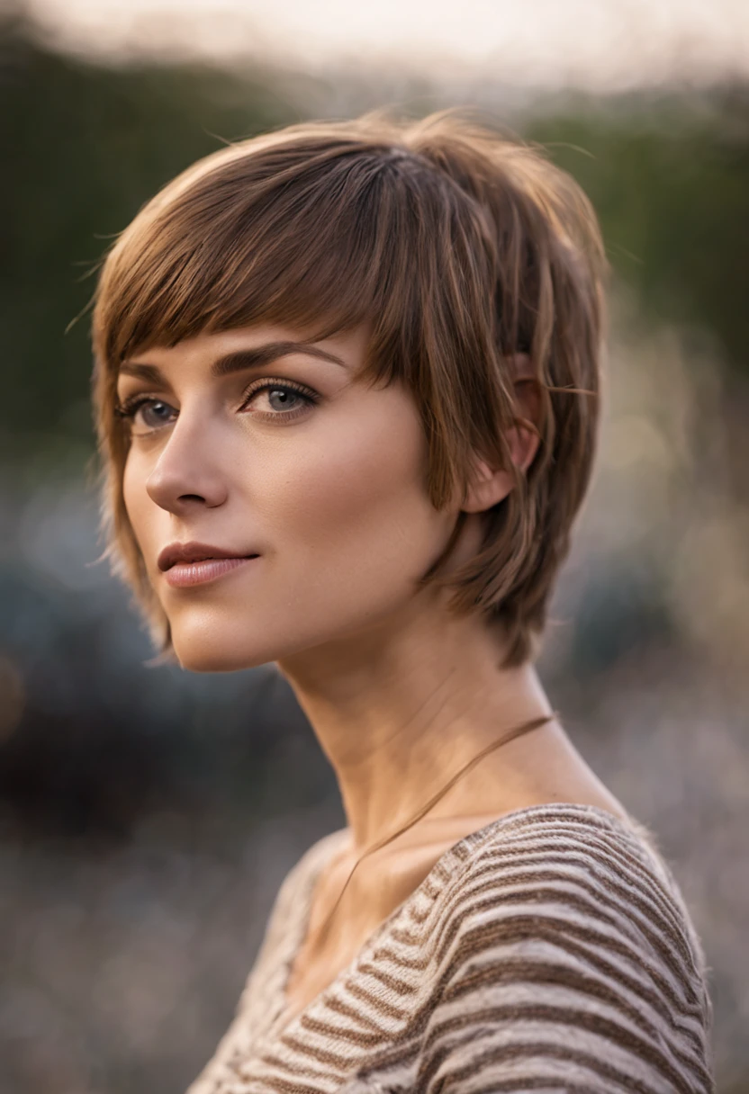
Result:
M508 359L527 353L541 443L484 514L483 546L449 577L457 612L500 625L506 664L534 652L596 449L607 263L594 210L538 149L452 114L369 115L243 140L138 212L105 256L92 322L102 516L113 569L163 654L169 622L123 500L120 362L256 322L313 338L368 324L362 381L401 381L422 415L428 492L442 508L479 453L512 468Z

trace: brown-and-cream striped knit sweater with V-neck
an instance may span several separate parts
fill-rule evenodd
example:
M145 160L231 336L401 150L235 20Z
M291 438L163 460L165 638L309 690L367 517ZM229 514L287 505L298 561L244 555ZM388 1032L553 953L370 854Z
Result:
M650 834L535 805L448 850L287 1022L315 878L286 877L237 1016L187 1094L714 1091L700 941Z

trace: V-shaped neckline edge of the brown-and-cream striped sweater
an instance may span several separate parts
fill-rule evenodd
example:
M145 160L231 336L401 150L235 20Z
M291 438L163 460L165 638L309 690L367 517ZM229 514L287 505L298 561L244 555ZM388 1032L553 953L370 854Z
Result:
M261 1038L264 1047L285 1036L289 1031L296 1028L304 1017L324 1005L325 1001L331 998L338 986L355 975L356 970L371 957L372 951L382 936L396 927L399 921L407 915L412 905L427 891L430 892L431 898L436 899L453 875L456 869L465 862L480 847L487 843L503 827L511 826L514 822L517 823L523 819L532 821L537 815L561 814L569 816L571 813L574 813L577 819L590 822L594 826L608 827L620 835L624 834L629 839L637 839L641 845L644 843L646 846L650 854L655 853L657 858L656 849L650 843L650 834L646 828L633 817L629 817L625 821L615 813L611 813L609 810L601 808L598 805L588 805L580 802L550 802L522 806L511 810L508 813L503 813L502 816L491 821L483 828L469 833L449 847L437 859L429 873L416 886L413 893L405 897L367 936L352 961L335 975L322 991L310 999L300 1011L297 1011L296 1014L287 1019L287 987L291 978L293 962L307 938L315 885L327 863L332 861L335 853L348 838L348 828L339 828L327 836L323 836L308 852L311 854L311 861L295 894L295 907L297 910L286 935L286 946L280 961L281 977L277 989L277 997L274 1001L275 1005L272 1008L273 1019L266 1028L265 1036Z

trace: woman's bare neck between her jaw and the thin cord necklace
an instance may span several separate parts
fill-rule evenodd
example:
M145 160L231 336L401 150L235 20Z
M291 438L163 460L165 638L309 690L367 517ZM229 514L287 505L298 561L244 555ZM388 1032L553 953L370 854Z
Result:
M551 713L533 667L500 667L502 645L477 616L417 612L417 601L397 620L278 664L336 772L358 852L405 824L482 748ZM533 736L491 754L487 800L470 799L471 812L495 802L503 811L503 785L517 787ZM464 807L459 788L433 818Z

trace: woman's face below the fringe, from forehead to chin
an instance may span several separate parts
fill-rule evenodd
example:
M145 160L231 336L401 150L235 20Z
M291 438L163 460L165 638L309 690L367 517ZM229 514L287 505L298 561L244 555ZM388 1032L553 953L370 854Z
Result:
M125 504L183 667L252 667L380 626L442 551L458 508L428 499L412 396L356 382L365 349L364 330L304 344L252 326L123 366ZM170 565L191 543L187 558L231 558Z

